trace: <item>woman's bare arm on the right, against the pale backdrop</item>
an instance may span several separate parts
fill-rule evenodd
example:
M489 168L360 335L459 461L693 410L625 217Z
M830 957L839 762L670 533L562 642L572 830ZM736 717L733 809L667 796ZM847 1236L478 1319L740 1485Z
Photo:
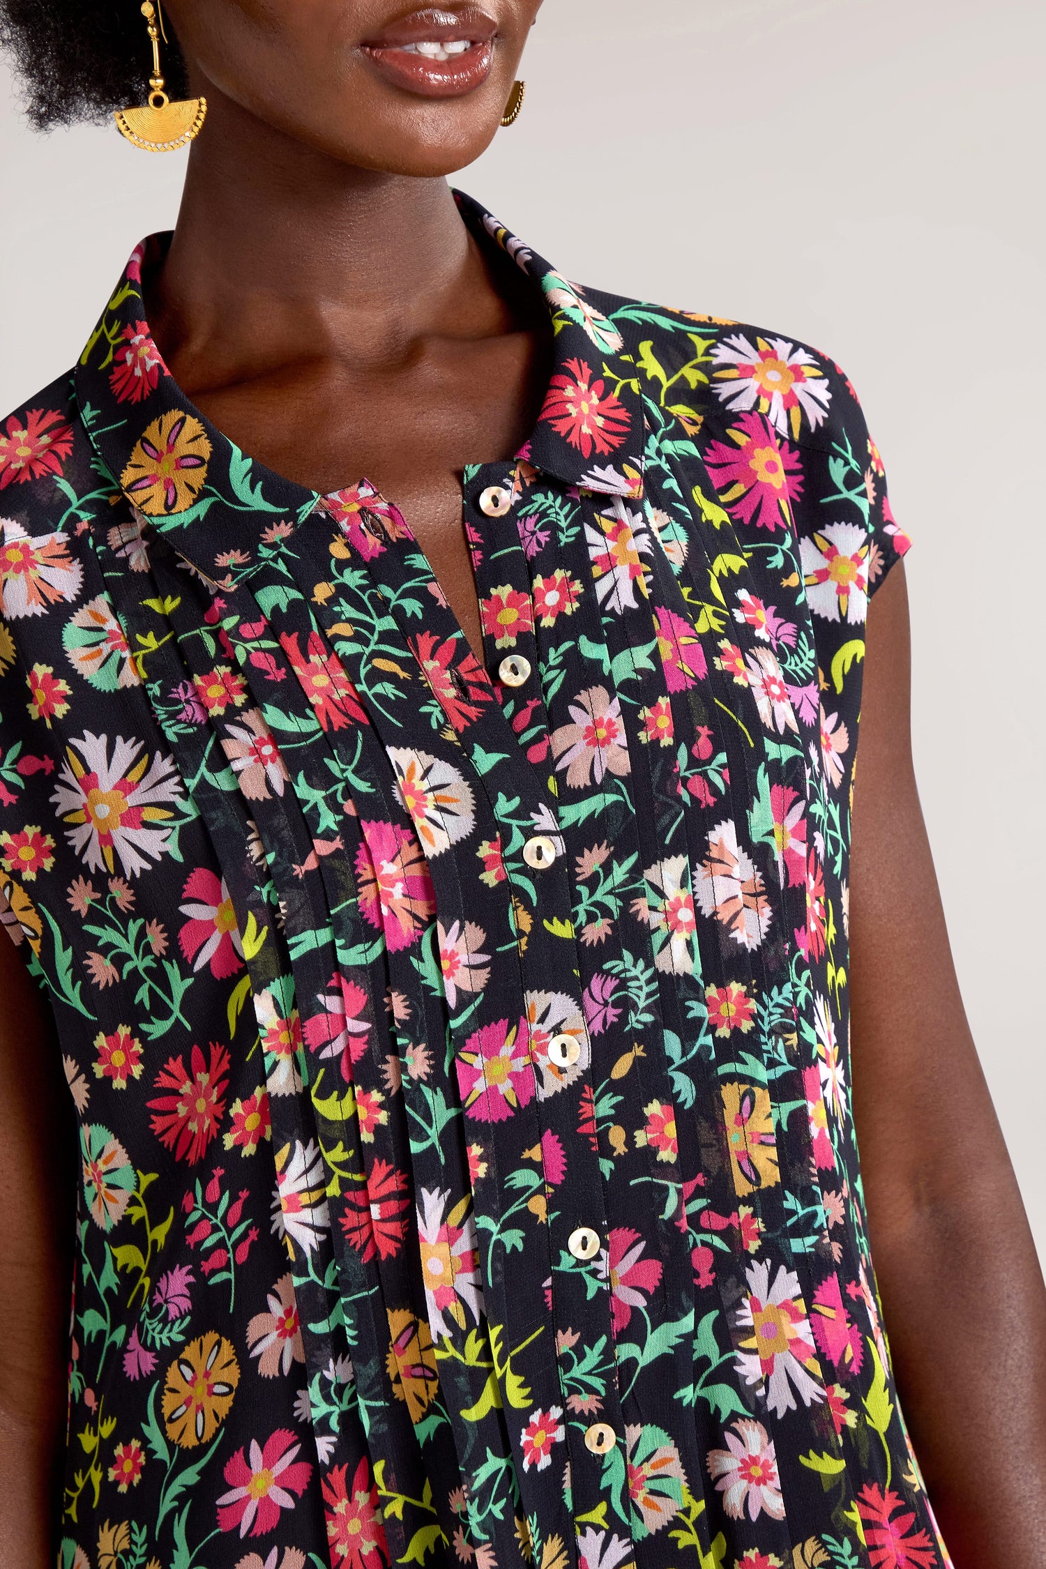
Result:
M1041 1569L1046 1291L916 792L902 566L869 615L850 940L853 1116L919 1464L957 1569Z

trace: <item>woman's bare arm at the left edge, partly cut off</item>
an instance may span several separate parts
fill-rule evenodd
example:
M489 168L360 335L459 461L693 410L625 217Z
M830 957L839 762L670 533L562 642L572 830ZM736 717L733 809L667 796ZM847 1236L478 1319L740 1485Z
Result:
M0 932L0 1564L19 1569L58 1550L75 1138L49 1012Z

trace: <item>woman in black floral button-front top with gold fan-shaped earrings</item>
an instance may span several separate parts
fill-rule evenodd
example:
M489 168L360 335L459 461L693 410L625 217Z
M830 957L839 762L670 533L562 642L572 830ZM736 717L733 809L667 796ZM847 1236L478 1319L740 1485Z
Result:
M196 137L0 427L5 1564L1041 1564L848 381L452 196L538 0L3 11Z

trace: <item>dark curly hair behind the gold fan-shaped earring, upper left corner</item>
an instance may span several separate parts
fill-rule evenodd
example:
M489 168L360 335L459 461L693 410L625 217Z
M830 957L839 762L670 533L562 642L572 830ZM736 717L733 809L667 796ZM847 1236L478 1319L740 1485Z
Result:
M165 16L162 46L171 97L185 97L185 63ZM152 56L141 0L0 0L0 49L14 58L30 121L104 121L144 104Z

